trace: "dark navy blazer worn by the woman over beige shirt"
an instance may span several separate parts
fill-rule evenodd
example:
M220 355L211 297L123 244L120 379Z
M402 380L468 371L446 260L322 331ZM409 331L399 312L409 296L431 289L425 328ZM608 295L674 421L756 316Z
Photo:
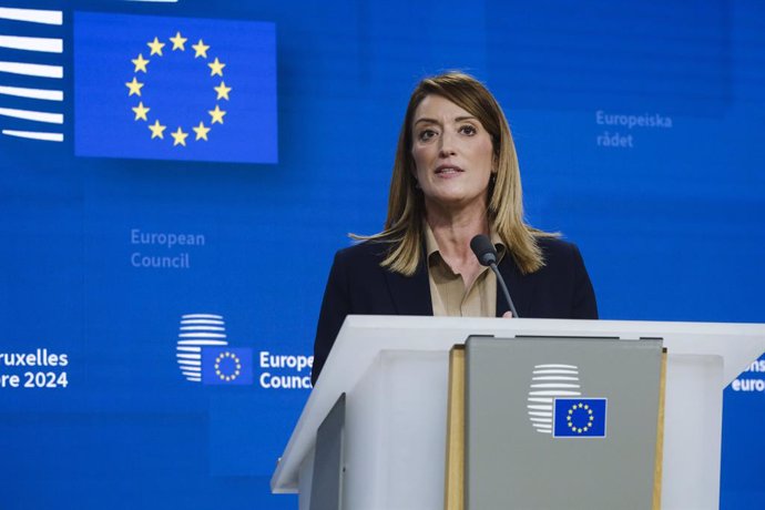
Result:
M541 237L538 243L545 265L536 273L521 274L509 255L499 264L518 315L596 319L595 293L577 246L549 237ZM434 315L426 262L412 276L387 271L380 262L388 246L366 242L335 255L316 328L313 382L347 315ZM497 317L509 309L498 288Z

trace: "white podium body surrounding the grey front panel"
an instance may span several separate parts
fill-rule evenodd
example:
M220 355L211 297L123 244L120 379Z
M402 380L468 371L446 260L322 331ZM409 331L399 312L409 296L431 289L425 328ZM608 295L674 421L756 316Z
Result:
M661 508L717 508L723 389L765 351L765 325L349 316L272 491L298 492L299 508L310 508L317 432L340 402L343 508L445 508L449 351L470 336L661 339L667 350Z

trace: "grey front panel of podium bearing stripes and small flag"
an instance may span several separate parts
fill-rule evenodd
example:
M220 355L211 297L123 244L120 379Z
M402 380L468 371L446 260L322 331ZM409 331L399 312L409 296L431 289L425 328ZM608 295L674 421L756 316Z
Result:
M467 509L651 509L661 340L466 347Z

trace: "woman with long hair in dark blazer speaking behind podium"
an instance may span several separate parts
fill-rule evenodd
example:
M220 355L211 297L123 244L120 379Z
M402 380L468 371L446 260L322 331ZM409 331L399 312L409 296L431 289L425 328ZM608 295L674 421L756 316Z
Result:
M494 274L470 249L491 237L518 315L598 318L573 244L523 222L508 122L475 78L422 80L396 151L385 230L335 255L314 345L315 382L349 314L509 317ZM501 293L500 293L501 294Z

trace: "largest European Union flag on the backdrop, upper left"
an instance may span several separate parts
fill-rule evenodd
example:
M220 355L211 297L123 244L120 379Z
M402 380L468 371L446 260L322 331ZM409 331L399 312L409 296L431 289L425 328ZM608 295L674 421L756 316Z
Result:
M74 153L277 162L274 23L74 13Z

